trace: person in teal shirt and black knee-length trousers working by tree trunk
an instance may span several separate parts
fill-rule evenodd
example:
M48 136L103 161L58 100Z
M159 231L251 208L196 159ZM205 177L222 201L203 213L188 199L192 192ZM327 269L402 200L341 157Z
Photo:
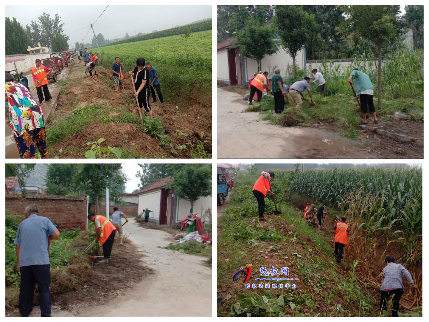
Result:
M375 114L374 103L372 98L374 96L374 86L372 86L371 79L366 73L357 70L356 68L350 73L348 79L350 84L354 83L354 89L356 90L356 98L360 98L360 110L362 112L363 121L360 125L366 125L366 114L372 112L374 117L374 124L378 124L377 115Z

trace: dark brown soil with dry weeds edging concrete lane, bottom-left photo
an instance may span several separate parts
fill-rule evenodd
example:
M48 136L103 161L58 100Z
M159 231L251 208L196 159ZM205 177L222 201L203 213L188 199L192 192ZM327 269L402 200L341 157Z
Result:
M89 233L89 232L88 232ZM82 238L74 242L74 247L85 248L82 240L88 236L85 232ZM102 249L97 249L91 255L103 255ZM88 254L77 255L70 259L66 267L51 270L51 304L62 310L86 306L88 303L100 303L103 298L113 298L121 295L145 276L154 273L141 261L142 253L132 243L120 246L115 241L109 264L98 264ZM20 316L18 307L18 292L14 293L15 309L6 308L6 316ZM8 290L6 289L6 295ZM16 294L15 294L16 293ZM39 305L39 296L34 297L34 306Z

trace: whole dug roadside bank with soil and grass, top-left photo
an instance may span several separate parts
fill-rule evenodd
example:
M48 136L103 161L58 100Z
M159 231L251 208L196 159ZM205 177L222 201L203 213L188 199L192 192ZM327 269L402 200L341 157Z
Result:
M102 67L97 71L102 82L113 84L108 77L111 71ZM121 158L210 157L211 106L152 103L154 119L145 117L142 128L128 74L124 75L125 94L85 77L83 64L74 64L68 77L46 125L50 156L85 158L91 149L87 143L103 138L97 149L119 148Z

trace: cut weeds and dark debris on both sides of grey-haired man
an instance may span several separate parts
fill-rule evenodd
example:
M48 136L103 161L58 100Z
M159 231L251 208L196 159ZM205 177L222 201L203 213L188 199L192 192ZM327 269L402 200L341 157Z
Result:
M16 273L13 232L15 216L8 216L6 225L6 314L18 316L19 273ZM18 220L17 222L19 222ZM15 230L16 233L16 230ZM10 235L10 236L9 236ZM51 302L64 310L86 306L88 303L101 302L102 298L113 298L138 283L152 270L142 265L141 254L136 246L115 242L112 257L108 265L96 264L90 255L103 255L102 249L93 246L88 253L82 250L94 240L95 230L62 231L61 236L51 244ZM128 240L129 241L129 240ZM112 272L121 272L112 274ZM109 288L106 288L109 285ZM39 305L38 292L34 305Z

